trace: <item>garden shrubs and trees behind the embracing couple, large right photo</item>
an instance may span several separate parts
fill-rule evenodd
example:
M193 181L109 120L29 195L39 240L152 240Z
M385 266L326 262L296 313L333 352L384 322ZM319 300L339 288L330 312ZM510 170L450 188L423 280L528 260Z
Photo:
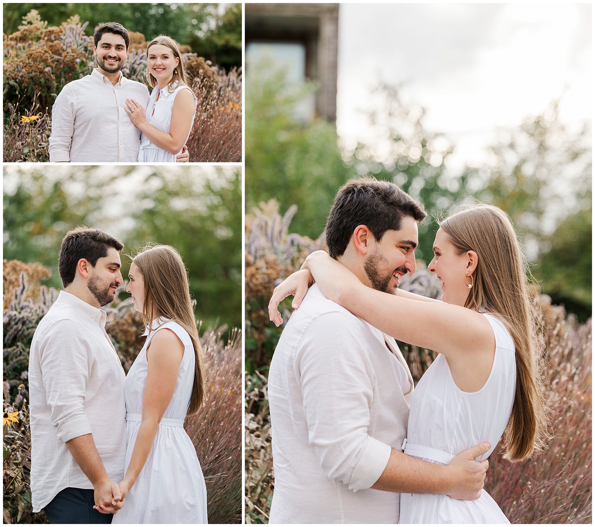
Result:
M314 84L287 81L270 58L248 64L246 88L246 515L268 520L274 491L267 372L281 328L268 320L276 283L305 255L324 248L325 219L349 177L372 173L396 182L430 213L419 229L418 272L406 288L436 297L425 270L436 218L462 202L493 203L511 216L541 286L549 325L546 356L554 438L546 452L512 464L490 460L487 490L513 523L591 521L591 129L570 130L559 101L499 130L484 166L446 169L456 145L424 127L424 108L377 82L371 144L348 149L333 124L298 123L293 108ZM290 227L291 224L291 227ZM289 301L281 304L289 319ZM563 306L563 307L562 307ZM568 315L566 313L569 313ZM416 379L430 350L402 345Z

